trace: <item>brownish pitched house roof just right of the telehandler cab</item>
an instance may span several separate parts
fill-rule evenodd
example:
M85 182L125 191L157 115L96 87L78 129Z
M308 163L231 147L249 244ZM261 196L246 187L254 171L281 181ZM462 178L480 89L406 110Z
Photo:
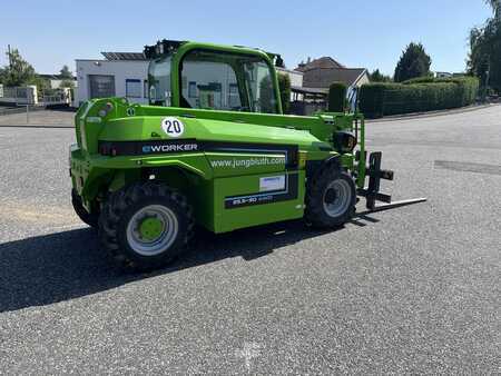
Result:
M304 73L303 85L308 88L328 88L333 82L343 82L347 87L355 85L364 73L365 68L320 68Z

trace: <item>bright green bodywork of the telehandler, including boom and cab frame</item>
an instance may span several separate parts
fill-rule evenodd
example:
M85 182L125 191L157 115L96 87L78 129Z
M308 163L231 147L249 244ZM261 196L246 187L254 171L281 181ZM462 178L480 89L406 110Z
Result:
M184 53L202 47L257 53L272 65L268 56L258 50L188 44L181 46L174 56L173 71L178 71ZM276 72L272 71L276 81ZM274 86L277 88L276 82ZM171 75L171 87L173 103L179 106L178 75ZM278 95L277 100L279 103ZM173 138L165 131L163 122L166 118L175 118L183 123L180 137ZM96 210L109 192L141 179L155 178L188 197L199 225L215 232L225 232L303 217L306 166L312 161L338 157L345 169L357 174L358 187L363 187L365 181L364 164L356 164L353 154L342 155L333 147L336 131L356 131L360 151L364 156L364 122L360 115L301 117L216 111L129 105L122 98L107 98L84 103L76 113L75 123L77 145L70 151L71 179L89 211ZM100 150L100 145L102 147L107 142L145 145L171 141L226 147L224 150L196 148L189 152L155 155L110 155ZM259 146L258 151L253 149L254 146ZM294 150L297 151L297 161L291 166L288 159L292 159Z

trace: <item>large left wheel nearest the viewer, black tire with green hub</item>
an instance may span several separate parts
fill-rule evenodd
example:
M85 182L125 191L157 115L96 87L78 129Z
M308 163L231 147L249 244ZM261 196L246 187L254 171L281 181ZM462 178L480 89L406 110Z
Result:
M180 255L193 235L186 197L160 182L114 192L99 220L101 244L121 267L149 270Z

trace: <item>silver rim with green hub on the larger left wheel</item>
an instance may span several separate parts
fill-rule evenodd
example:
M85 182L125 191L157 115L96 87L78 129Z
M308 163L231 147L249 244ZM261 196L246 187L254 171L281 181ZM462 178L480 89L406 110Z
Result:
M156 256L170 247L179 231L176 215L161 205L139 209L127 225L127 241L141 256Z

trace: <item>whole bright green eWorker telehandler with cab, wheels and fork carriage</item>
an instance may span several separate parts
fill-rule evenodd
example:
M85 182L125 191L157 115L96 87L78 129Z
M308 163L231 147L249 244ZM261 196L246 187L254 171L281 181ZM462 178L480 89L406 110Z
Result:
M279 56L168 40L145 56L149 106L85 102L70 150L75 210L121 266L161 267L195 225L218 234L304 218L332 228L351 220L357 195L370 210L391 201L379 192L393 179L381 154L366 166L361 113L283 115Z

